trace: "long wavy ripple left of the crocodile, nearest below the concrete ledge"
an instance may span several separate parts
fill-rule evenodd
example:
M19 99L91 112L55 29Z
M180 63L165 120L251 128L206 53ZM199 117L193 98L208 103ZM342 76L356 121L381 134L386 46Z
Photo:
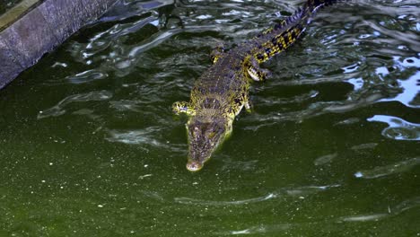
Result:
M59 101L57 105L49 108L48 110L39 111L38 119L57 117L66 113L64 109L68 104L73 102L86 102L86 101L106 101L112 97L112 93L108 91L93 91L87 93L78 93L67 96L62 101Z

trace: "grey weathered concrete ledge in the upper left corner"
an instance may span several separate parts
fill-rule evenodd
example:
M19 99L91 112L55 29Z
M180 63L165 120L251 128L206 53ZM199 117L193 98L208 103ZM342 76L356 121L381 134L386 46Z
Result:
M0 89L118 0L23 0L0 16Z

